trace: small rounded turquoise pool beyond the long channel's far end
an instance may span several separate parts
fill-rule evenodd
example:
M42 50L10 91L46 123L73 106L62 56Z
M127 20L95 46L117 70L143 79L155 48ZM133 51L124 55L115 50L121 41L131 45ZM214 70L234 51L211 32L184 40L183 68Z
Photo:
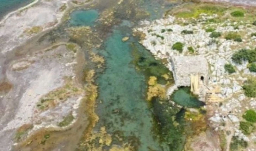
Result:
M92 26L99 14L96 10L79 10L71 13L71 26Z

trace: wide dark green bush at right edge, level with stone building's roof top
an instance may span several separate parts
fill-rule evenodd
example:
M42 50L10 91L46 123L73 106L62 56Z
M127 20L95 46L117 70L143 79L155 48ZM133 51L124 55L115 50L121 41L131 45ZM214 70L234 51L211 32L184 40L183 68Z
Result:
M242 61L248 61L249 63L256 62L256 49L242 49L235 52L232 57L232 61L237 64L242 64Z

